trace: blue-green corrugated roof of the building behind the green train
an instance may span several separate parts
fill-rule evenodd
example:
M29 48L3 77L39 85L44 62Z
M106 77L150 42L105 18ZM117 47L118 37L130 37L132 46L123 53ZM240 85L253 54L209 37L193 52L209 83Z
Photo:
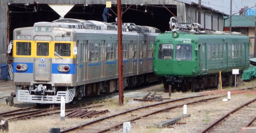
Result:
M225 26L229 27L230 19L225 20ZM255 27L255 16L233 15L232 27Z

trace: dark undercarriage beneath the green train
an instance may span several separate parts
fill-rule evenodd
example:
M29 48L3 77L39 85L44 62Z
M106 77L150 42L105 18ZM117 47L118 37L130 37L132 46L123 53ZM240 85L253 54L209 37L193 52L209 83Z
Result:
M236 75L236 86L241 84L242 72ZM166 77L164 80L165 90L172 91L200 91L209 88L219 88L219 74L203 75L198 77ZM221 74L222 86L235 85L235 75L231 73ZM171 85L171 86L170 86Z

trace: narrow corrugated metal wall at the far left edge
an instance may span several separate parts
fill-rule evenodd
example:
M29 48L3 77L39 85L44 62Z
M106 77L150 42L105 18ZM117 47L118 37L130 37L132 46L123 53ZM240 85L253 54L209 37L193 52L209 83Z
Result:
M7 78L6 64L6 7L0 3L0 80Z

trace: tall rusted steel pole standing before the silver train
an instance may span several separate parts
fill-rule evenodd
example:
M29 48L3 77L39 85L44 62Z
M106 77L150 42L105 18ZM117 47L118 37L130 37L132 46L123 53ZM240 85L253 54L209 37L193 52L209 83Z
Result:
M121 0L117 0L117 36L118 36L118 84L119 84L119 106L124 104L124 88L122 76L122 10Z

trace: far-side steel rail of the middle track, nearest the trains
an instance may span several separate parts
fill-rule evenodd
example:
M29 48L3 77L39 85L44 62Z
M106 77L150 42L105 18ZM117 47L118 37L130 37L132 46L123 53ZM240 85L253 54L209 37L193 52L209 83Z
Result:
M252 88L254 88L254 87L252 87ZM245 89L251 89L251 88L243 88L242 90L245 90ZM237 90L241 90L241 89L237 89ZM232 90L232 91L236 91L236 90ZM223 92L221 92L221 93L223 93ZM238 92L238 93L244 93L244 92ZM233 93L233 94L237 94L237 93ZM121 113L118 113L118 114L115 114L115 115L106 116L106 117L103 117L103 118L100 118L100 119L96 119L96 120L93 120L93 121L91 121L91 122L87 122L87 123L85 123L85 124L82 124L82 125L79 125L79 126L76 126L76 127L64 129L64 130L62 130L60 133L66 133L66 132L69 132L69 131L74 131L74 130L79 129L79 128L82 128L82 127L84 127L84 126L88 126L88 125L94 124L94 123L96 123L96 122L100 122L100 121L102 121L102 120L109 119L109 118L111 118L111 117L116 117L116 116L119 116L119 115L122 115L122 114L125 114L125 113L129 113L129 112L132 112L132 111L135 111L135 110L139 110L139 109L143 109L143 108L149 108L149 107L153 107L153 106L158 106L158 105L166 104L166 103L169 103L169 102L182 101L182 100L184 100L184 99L191 99L191 98L195 98L195 97L203 97L203 96L207 96L207 95L211 95L211 94L198 95L198 96L192 96L192 97L185 97L185 98L181 98L181 99L175 99L175 100L165 101L165 102L161 102L161 103L157 103L157 104L151 104L151 105L147 105L147 106L143 106L143 107L139 107L139 108L135 108L135 109L123 111L123 112L121 112ZM226 95L223 95L223 96L226 96ZM223 96L219 96L219 97L223 97ZM211 98L211 99L212 99L212 98ZM205 99L204 99L204 100L205 100ZM119 125L118 125L118 126L119 126Z

